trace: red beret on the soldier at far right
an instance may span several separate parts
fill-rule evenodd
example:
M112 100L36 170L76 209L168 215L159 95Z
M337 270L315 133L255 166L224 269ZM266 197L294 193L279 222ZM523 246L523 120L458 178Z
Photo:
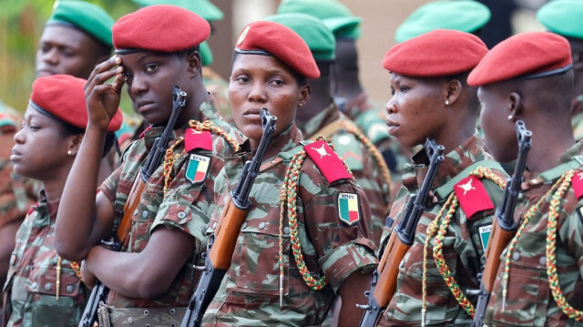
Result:
M522 33L494 46L467 77L467 84L479 87L515 77L547 77L567 71L572 63L565 37Z

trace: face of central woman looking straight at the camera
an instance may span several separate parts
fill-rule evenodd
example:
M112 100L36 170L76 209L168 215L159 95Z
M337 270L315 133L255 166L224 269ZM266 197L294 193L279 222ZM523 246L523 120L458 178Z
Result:
M261 139L262 107L277 117L277 135L293 124L297 107L309 96L310 87L299 86L290 67L273 56L240 55L233 63L230 107L237 128L251 140Z

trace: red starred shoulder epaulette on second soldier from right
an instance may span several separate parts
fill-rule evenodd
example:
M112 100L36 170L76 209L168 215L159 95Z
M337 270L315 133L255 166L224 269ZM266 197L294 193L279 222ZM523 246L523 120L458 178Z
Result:
M471 219L477 212L494 209L494 203L482 181L474 175L457 182L454 191L467 219Z

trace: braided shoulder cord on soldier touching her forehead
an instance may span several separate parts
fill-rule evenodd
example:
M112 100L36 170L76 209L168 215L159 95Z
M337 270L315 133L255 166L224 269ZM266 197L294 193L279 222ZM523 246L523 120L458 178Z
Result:
M205 120L204 122L199 122L197 120L190 120L189 127L197 130L199 132L202 131L210 131L210 133L214 133L221 138L224 138L235 151L239 150L239 142L235 138L232 138L227 132L225 132L222 128L218 126L214 126L210 120ZM174 178L172 176L172 166L174 166L174 161L180 157L183 153L186 153L185 149L179 151L178 153L174 153L174 150L179 147L180 144L184 142L184 137L180 137L177 139L167 150L166 155L164 156L164 194L169 188L170 182Z

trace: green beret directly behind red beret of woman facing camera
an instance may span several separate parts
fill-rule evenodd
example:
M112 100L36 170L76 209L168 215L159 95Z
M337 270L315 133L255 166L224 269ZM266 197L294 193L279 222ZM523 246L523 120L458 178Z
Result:
M333 60L336 48L336 39L330 28L312 15L290 13L270 15L265 18L271 22L290 27L310 47L312 56L316 60Z

